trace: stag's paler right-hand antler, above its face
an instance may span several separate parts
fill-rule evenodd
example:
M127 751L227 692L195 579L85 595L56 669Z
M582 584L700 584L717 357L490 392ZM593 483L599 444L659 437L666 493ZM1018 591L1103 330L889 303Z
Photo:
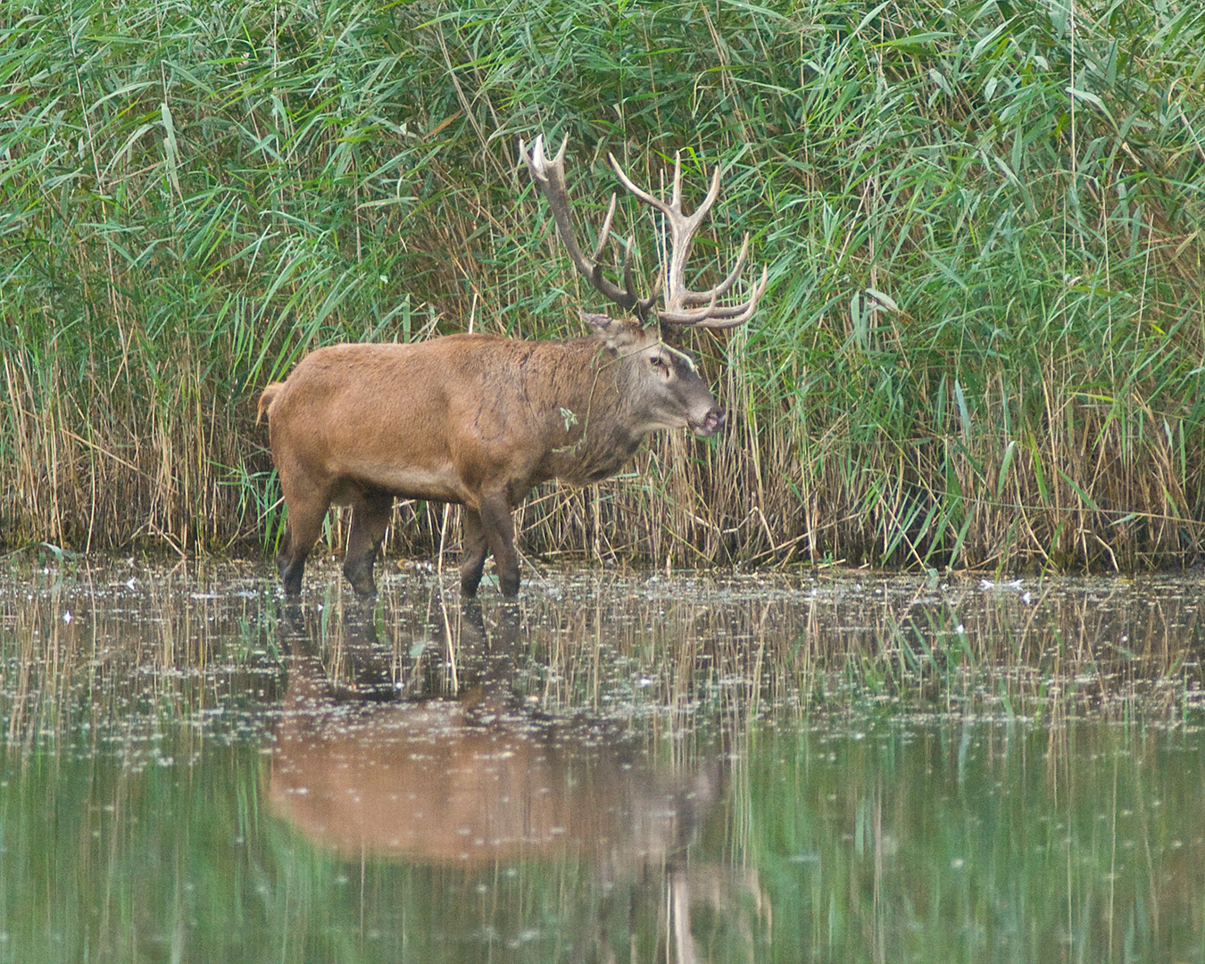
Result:
M643 188L631 182L631 178L623 172L615 154L609 154L611 167L615 169L621 183L645 204L656 207L664 216L670 228L670 264L665 272L665 307L657 312L657 317L666 324L689 325L692 328L735 328L743 324L757 308L757 301L765 290L768 271L762 269L762 280L753 286L747 300L735 305L719 305L717 301L723 298L740 277L745 266L745 255L748 253L750 236L745 234L741 241L741 252L736 255L736 264L719 284L705 292L692 292L686 287L686 260L690 254L690 245L704 217L719 196L719 169L711 176L711 187L707 196L703 199L693 214L682 211L682 158L674 155L674 193L666 204L660 198L656 198ZM700 307L700 305L703 307Z

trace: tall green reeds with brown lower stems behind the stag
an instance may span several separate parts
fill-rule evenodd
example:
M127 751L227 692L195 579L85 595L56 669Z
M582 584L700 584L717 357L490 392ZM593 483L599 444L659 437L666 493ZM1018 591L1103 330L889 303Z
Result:
M1142 0L6 5L0 549L275 545L255 399L306 352L582 334L517 160L543 133L588 230L609 152L651 184L682 152L688 206L722 164L694 264L748 231L770 284L684 346L723 436L537 490L525 553L1194 564L1203 49L1205 11ZM401 505L388 548L455 518Z

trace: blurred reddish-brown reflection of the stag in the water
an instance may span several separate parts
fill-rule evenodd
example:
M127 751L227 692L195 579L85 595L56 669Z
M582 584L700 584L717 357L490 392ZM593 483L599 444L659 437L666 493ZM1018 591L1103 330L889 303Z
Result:
M510 686L515 609L504 607L492 634L477 604L459 613L458 628L446 623L462 674L449 696L396 698L371 623L336 628L349 637L352 686L328 676L310 631L290 634L268 788L275 813L351 859L480 866L568 857L602 883L664 872L678 956L693 959L690 881L717 907L728 903L701 887L722 872L688 872L684 860L718 797L718 763L666 771L596 721L540 718Z

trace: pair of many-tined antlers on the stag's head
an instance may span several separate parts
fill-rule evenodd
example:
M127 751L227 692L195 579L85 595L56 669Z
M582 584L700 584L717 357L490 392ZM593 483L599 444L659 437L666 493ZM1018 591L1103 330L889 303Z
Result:
M648 318L649 310L656 304L659 292L654 292L643 299L636 296L631 276L631 242L629 241L624 246L622 288L604 277L602 266L598 260L602 254L607 239L611 236L611 219L615 217L616 206L616 196L613 194L611 195L611 205L607 207L606 218L602 221L602 228L599 231L599 242L594 249L594 254L589 258L586 257L586 253L578 247L577 240L574 237L569 188L565 186L564 160L568 146L569 137L566 136L557 155L549 161L543 152L543 135L541 134L535 139L530 153L527 149L527 145L522 140L519 141L519 157L523 158L528 170L531 172L531 180L535 181L543 196L548 199L553 219L557 222L557 233L560 235L560 240L577 270L589 281L596 292L615 301L619 307L633 311L643 322ZM609 154L607 157L621 183L641 201L660 211L669 223L670 263L664 272L663 284L665 290L665 307L657 312L658 319L666 324L688 325L692 328L735 328L747 322L757 308L758 299L765 290L768 277L765 269L762 271L762 280L753 286L753 290L750 293L747 300L728 305L718 302L731 290L740 277L741 269L745 266L745 255L748 252L748 234L741 241L741 251L736 255L736 264L728 274L728 277L719 282L719 284L705 292L692 292L686 287L686 261L690 253L690 243L694 241L694 236L698 234L699 225L703 223L704 217L706 217L707 211L711 210L711 206L716 202L716 198L719 196L719 169L717 167L711 177L711 188L707 190L707 196L704 198L703 204L695 208L693 214L686 214L682 211L681 157L675 157L674 159L674 194L668 204L634 184L623 172L613 154Z

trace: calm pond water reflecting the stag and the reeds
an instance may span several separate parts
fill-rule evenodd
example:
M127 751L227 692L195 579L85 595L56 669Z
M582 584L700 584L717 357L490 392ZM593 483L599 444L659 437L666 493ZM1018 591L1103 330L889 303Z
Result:
M1197 577L0 575L0 962L1205 962Z

